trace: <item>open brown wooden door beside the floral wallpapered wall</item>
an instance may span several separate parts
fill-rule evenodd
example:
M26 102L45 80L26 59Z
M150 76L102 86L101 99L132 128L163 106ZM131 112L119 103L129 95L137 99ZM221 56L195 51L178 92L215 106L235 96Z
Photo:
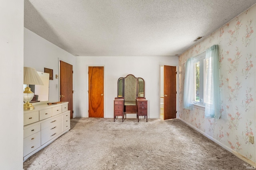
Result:
M176 118L176 66L164 66L164 120Z

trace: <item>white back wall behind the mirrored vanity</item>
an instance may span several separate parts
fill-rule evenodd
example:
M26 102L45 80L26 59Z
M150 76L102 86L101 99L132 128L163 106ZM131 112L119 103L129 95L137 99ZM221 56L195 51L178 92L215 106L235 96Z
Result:
M88 117L88 66L104 66L104 117L113 118L118 78L133 74L145 80L148 117L159 118L161 65L178 66L178 57L76 57L76 116Z

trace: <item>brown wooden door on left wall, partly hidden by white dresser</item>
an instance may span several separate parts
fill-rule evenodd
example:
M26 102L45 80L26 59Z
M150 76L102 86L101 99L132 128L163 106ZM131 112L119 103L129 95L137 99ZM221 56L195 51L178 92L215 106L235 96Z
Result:
M60 61L60 102L68 102L70 119L73 118L73 66Z

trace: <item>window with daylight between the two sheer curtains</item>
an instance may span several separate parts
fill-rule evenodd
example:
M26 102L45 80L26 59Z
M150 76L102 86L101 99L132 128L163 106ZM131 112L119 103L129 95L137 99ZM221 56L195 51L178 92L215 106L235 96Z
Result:
M205 106L204 99L205 99L205 90L206 90L206 59L205 59L206 53L202 53L195 57L195 59L192 61L193 63L193 80L194 80L194 94L193 94L193 102L194 104Z

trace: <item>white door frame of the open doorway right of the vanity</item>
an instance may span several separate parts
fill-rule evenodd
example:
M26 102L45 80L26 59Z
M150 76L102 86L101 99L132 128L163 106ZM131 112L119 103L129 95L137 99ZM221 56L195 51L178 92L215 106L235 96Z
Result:
M177 114L176 114L176 118L179 118L179 110L180 110L180 106L179 106L179 99L180 99L180 94L179 94L179 81L180 81L180 72L179 72L179 65L178 64L160 64L159 65L159 97L158 97L158 110L159 110L159 114L158 114L158 118L160 119L160 113L161 113L161 67L163 66L176 66L177 67L177 77L176 77L176 90L177 90L177 95L176 95L176 110L177 110Z

